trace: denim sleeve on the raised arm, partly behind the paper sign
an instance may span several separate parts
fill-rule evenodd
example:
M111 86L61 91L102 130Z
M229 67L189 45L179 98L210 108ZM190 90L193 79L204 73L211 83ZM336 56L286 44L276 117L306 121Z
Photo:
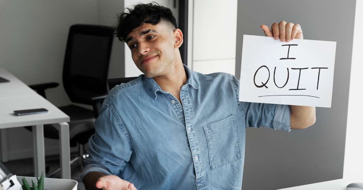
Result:
M240 102L238 97L240 81L233 75L231 81L235 86L237 104L245 115L246 127L291 131L289 105Z

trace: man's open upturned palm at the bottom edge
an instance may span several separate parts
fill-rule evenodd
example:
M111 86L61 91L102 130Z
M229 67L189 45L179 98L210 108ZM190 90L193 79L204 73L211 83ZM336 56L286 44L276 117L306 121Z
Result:
M118 176L108 175L98 178L96 187L103 190L137 190L134 184Z

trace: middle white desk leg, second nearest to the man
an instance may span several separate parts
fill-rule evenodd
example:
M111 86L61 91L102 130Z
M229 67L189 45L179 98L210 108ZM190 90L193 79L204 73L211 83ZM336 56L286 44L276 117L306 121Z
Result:
M43 125L32 126L34 143L34 176L45 174L44 128Z

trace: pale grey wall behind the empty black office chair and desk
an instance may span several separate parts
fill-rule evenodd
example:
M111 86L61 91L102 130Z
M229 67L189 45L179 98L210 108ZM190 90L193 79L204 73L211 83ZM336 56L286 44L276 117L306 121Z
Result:
M57 88L46 90L46 96L56 106L68 105L71 102L62 85L62 68L69 27L73 24L113 25L117 12L122 11L123 0L1 0L0 67L28 85L60 83ZM123 52L123 44L115 38L110 78L124 76ZM10 160L33 156L29 131L19 127L1 132L8 136ZM45 139L45 153L57 154L58 141Z

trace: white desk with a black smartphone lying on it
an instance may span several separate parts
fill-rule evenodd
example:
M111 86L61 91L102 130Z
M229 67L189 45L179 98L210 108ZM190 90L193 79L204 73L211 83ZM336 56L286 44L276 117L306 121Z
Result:
M70 179L69 125L67 123L69 116L5 69L0 68L0 76L10 80L7 83L0 83L0 129L33 127L34 173L36 176L40 176L41 172L45 171L43 125L52 124L55 126L59 131L60 139L61 178ZM23 116L13 114L14 110L35 108L45 108L49 112ZM1 135L3 136L3 134L2 132Z

